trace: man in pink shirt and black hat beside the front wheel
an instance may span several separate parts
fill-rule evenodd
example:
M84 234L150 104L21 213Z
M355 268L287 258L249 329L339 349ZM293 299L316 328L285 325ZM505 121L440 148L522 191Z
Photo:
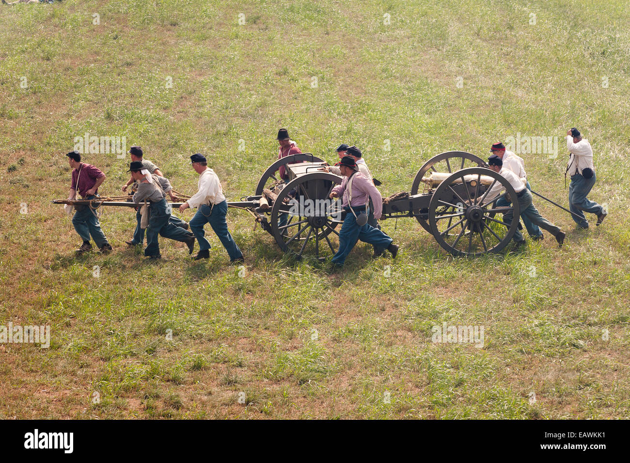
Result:
M378 228L367 223L370 213L368 201L374 204L374 218L381 218L383 200L381 193L374 184L362 173L358 172L354 158L345 156L339 163L343 181L330 193L330 198L341 197L341 207L346 211L346 217L339 231L339 249L333 255L333 266L343 267L343 263L352 251L357 240L374 245L374 257L379 257L384 250L389 250L392 257L398 254L398 245ZM348 188L348 182L351 182Z

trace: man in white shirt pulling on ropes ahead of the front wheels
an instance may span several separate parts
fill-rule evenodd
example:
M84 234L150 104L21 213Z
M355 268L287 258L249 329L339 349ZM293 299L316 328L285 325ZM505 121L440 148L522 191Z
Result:
M199 153L190 156L193 169L199 174L198 191L180 206L180 212L188 208L197 208L197 213L189 222L190 231L199 242L199 252L193 260L208 259L210 257L210 243L204 238L203 225L210 223L212 230L227 250L232 263L244 263L243 253L234 242L227 230L227 201L223 196L221 182L214 170L208 168L205 157Z

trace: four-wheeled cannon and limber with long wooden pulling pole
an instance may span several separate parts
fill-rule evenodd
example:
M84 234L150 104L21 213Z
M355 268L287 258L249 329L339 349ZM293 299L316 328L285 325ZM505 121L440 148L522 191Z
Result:
M297 259L323 261L338 248L337 228L345 212L340 199L329 194L343 177L320 170L326 162L311 153L286 156L266 168L255 193L228 202L245 209L275 239L281 250ZM286 175L276 175L284 167ZM487 168L485 161L465 151L447 151L428 160L416 173L410 192L383 201L382 220L415 218L444 250L455 256L500 252L512 240L518 220L507 225L496 214L512 211L518 218L518 202L497 207L486 194L501 184L502 196L516 197L510 183ZM183 195L182 195L183 196ZM182 198L183 199L183 198ZM140 204L98 199L56 200L56 204L132 206ZM171 203L173 207L181 202Z

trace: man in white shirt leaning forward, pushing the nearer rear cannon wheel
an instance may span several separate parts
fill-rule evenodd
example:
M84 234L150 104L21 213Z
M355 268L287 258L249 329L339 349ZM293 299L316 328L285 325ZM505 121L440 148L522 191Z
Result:
M490 158L488 158L488 165L490 166L491 170L498 172L502 177L505 177L505 179L510 182L510 185L512 185L517 196L516 198L512 198L512 201L518 201L518 206L520 206L520 216L522 218L529 219L532 223L538 225L543 230L549 231L549 233L551 233L551 235L556 238L558 245L562 246L562 244L564 243L563 231L561 231L558 226L553 225L553 223L541 216L541 213L537 211L534 203L532 202L532 194L525 187L524 180L519 179L517 175L512 172L512 170L508 169L507 167L503 167L503 161L501 161L501 158L499 156L490 156ZM484 204L492 202L493 199L499 196L502 189L503 185L501 185L499 182L496 182L495 186L493 186L486 195L486 198L484 199ZM503 214L503 222L505 222L507 226L512 225L513 216L513 211L509 211L507 214ZM523 235L520 233L520 231L518 231L518 229L516 233L514 233L513 238L518 247L525 244L525 238L523 238Z

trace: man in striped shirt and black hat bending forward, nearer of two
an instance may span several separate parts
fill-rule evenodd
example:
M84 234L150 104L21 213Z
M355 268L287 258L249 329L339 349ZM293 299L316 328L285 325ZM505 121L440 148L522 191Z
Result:
M129 171L133 179L138 183L138 189L134 194L134 202L146 201L149 203L150 218L147 227L147 247L144 255L149 259L160 259L159 243L157 235L164 238L181 241L188 246L188 254L192 254L195 247L195 236L179 226L173 225L169 218L171 216L171 206L166 202L166 193L163 185L169 187L168 180L164 177L152 177L148 170L142 167L140 161L133 161ZM163 179L163 180L157 180Z

